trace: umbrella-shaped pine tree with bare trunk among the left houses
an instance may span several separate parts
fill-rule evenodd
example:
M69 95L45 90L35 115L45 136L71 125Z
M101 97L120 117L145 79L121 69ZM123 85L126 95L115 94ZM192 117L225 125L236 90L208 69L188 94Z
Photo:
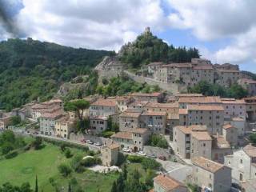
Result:
M75 111L78 114L78 118L82 122L84 110L88 109L90 106L90 102L87 102L84 99L77 99L71 102L65 103L65 110L67 111Z

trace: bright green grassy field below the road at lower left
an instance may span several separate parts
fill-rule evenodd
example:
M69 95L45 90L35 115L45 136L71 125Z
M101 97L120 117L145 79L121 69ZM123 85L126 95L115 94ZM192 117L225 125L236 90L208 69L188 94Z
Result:
M82 150L72 149L73 154L86 154ZM54 178L57 186L63 186L67 191L71 178L76 178L82 189L88 192L110 191L110 187L118 174L98 174L86 170L82 174L72 173L69 178L63 178L58 173L58 165L62 162L69 163L58 146L46 144L42 150L29 150L26 153L18 154L16 158L0 161L0 185L10 182L20 186L23 182L30 182L34 188L35 177L38 175L39 191L55 191L49 178Z

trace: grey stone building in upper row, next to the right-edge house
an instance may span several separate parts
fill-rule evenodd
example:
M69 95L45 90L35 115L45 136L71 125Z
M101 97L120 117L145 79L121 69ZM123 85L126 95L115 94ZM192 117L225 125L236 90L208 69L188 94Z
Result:
M240 77L241 75L239 70L215 70L215 82L220 86L230 87L232 84L237 83Z

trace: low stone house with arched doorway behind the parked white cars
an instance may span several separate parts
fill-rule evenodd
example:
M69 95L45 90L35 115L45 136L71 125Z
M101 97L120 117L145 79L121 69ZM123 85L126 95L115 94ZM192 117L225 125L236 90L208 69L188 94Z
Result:
M134 128L130 131L122 131L111 136L114 142L120 144L123 148L128 148L137 152L143 150L143 146L150 138L150 130L143 128Z

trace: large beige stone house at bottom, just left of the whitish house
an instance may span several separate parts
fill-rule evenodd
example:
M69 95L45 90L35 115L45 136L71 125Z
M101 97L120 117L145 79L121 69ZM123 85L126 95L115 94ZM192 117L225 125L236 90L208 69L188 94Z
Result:
M204 191L230 192L231 168L208 158L192 159L192 182L202 187Z

